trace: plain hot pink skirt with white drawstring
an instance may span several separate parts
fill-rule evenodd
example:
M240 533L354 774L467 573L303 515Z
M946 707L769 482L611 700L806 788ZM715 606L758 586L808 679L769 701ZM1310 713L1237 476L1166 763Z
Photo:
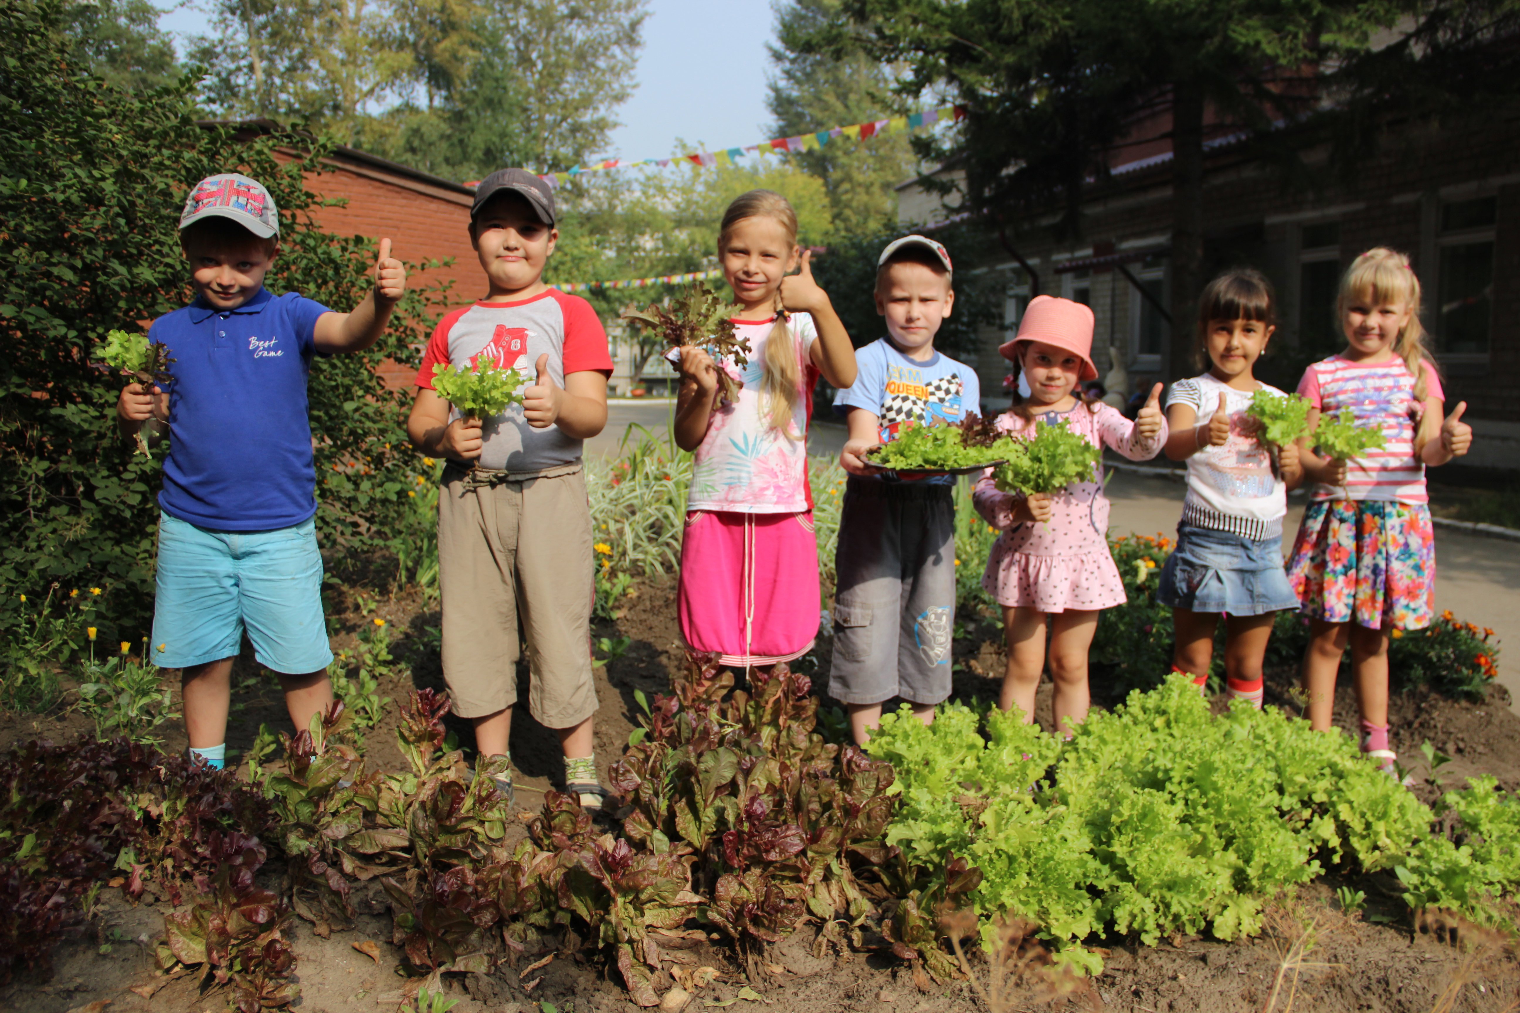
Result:
M792 661L812 650L819 607L810 512L686 516L678 612L687 647L736 668Z

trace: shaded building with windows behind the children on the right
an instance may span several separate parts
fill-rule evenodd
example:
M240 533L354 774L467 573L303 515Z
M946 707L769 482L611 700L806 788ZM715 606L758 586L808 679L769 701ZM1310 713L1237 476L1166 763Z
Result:
M1341 348L1332 319L1341 272L1363 249L1392 246L1420 275L1447 407L1468 402L1477 437L1468 463L1520 468L1517 120L1520 111L1496 109L1465 125L1391 126L1354 185L1318 193L1292 193L1271 167L1214 146L1204 178L1205 270L1249 264L1278 293L1275 348L1259 375L1292 389L1307 361ZM1006 330L985 331L976 357L990 409L1006 404L996 398L1008 375L997 346L1035 286L1093 308L1096 364L1105 374L1122 363L1128 392L1193 375L1190 363L1166 361L1172 155L1164 141L1138 155L1084 196L1081 240L1015 241L1037 278L1012 257L982 266L1006 279ZM904 228L953 213L914 182L898 187Z

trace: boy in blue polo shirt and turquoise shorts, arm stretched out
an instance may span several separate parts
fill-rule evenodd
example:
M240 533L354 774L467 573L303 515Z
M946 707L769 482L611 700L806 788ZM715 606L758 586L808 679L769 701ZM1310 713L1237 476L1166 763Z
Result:
M353 313L271 295L280 213L237 173L196 184L179 241L196 298L149 330L175 360L173 380L167 392L128 384L116 413L128 437L144 425L173 437L158 494L154 662L181 670L192 758L222 767L245 630L280 676L296 731L333 702L306 380L313 355L374 345L406 270L380 240L374 289Z

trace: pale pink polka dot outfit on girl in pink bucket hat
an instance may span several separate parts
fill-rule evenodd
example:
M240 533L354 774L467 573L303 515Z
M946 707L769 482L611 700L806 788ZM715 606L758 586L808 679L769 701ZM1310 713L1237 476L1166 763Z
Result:
M1069 412L1044 412L1035 421L1047 425L1066 422L1094 447L1108 447L1129 460L1149 460L1166 443L1166 424L1149 440L1135 436L1135 424L1107 404L1076 404ZM1012 412L997 419L997 428L1032 437L1034 424ZM1031 607L1040 612L1111 609L1123 604L1125 585L1108 553L1108 497L1100 475L1076 481L1055 494L1047 524L1015 524L1012 510L1018 500L993 484L988 469L976 483L973 501L988 524L1003 533L993 544L982 574L982 588L999 604Z

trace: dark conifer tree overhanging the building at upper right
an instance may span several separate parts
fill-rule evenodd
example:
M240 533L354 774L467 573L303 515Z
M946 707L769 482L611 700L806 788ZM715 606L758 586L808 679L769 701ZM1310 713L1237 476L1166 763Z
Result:
M1014 231L1034 228L1053 205L1062 210L1056 231L1075 235L1084 188L1108 178L1123 144L1145 140L1149 125L1170 141L1173 363L1187 361L1192 305L1202 286L1207 138L1243 134L1301 173L1300 152L1347 134L1344 111L1356 109L1366 123L1368 112L1376 118L1398 105L1389 102L1389 88L1412 109L1415 80L1449 91L1429 68L1471 73L1453 65L1452 53L1471 55L1515 8L1512 0L842 5L847 23L822 24L796 46L901 59L903 94L950 87L967 120L935 153L964 169L971 210ZM1512 70L1512 56L1499 62ZM1398 84L1389 67L1408 80ZM1327 106L1327 97L1335 103Z

